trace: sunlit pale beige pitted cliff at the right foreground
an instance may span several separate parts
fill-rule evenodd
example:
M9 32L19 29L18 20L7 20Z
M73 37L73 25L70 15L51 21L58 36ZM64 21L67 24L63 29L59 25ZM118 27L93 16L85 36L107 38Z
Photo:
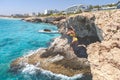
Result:
M100 11L94 15L104 40L87 47L93 80L120 80L120 11Z

